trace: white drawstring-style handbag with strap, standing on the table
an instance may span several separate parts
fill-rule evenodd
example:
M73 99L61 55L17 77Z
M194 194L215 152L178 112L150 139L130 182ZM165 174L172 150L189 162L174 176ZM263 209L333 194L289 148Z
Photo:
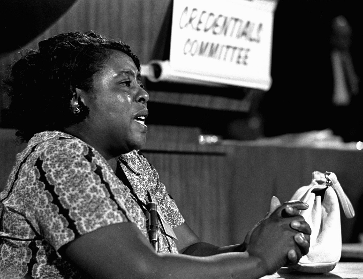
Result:
M310 249L298 264L301 272L322 273L334 269L342 252L339 201L347 218L354 217L353 206L332 172L313 172L310 185L299 188L291 200L301 200L309 208L301 216L311 227Z

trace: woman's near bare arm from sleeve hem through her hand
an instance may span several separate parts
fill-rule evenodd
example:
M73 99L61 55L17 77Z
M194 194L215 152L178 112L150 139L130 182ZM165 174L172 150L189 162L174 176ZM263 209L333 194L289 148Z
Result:
M59 252L91 278L260 278L286 264L289 250L299 250L294 241L296 231L290 227L294 218L299 219L272 214L252 232L244 253L207 257L156 254L131 222L82 235Z

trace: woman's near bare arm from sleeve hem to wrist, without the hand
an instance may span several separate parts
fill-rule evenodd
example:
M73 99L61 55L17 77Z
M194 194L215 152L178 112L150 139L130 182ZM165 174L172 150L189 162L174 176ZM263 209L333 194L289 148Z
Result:
M210 257L156 254L131 222L102 227L60 249L62 257L91 278L203 279L259 278L266 271L261 259L246 253Z

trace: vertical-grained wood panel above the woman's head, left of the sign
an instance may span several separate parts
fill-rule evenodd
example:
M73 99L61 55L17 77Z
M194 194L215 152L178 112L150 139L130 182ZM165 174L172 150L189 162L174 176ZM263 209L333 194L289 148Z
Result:
M95 30L125 41L141 63L147 63L152 58L170 3L171 0L78 0L54 25L24 48L37 48L39 41L62 32ZM21 36L21 31L14 36ZM19 56L18 52L0 58L0 86L8 65ZM8 99L1 87L0 90L1 110L8 106Z

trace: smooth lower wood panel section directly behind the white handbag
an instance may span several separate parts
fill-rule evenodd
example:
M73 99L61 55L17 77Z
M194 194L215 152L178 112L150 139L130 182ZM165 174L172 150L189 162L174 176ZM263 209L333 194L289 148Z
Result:
M319 149L308 147L261 146L237 144L230 146L233 175L229 197L231 242L244 239L249 228L269 209L272 196L289 201L295 191L309 185L314 171L335 172L344 192L358 212L363 206L363 152L358 150ZM351 241L356 216L347 219L342 209L342 240Z

